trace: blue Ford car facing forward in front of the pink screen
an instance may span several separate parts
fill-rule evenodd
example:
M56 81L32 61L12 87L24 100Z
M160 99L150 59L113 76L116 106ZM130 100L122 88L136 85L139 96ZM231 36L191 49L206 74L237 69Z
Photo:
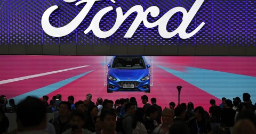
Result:
M113 56L108 64L107 92L150 93L150 64L144 56Z

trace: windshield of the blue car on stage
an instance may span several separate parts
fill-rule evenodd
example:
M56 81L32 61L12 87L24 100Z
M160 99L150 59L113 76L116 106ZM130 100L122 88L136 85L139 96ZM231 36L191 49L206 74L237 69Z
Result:
M145 69L142 57L116 57L113 62L113 69Z

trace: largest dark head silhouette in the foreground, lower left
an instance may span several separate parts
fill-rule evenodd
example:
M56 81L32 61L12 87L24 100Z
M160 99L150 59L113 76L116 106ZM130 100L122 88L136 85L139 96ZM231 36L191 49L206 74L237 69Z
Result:
M17 107L18 130L44 130L46 127L46 107L35 97L27 97Z

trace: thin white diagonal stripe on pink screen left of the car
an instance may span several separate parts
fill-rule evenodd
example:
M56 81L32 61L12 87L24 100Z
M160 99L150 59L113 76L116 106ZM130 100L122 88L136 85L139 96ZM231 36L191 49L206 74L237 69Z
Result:
M0 85L1 85L1 84L4 84L4 83L14 82L14 81L20 81L20 80L26 80L26 79L35 78L35 77L46 76L46 75L53 74L53 73L59 73L59 72L64 72L64 71L69 71L69 70L84 68L84 67L87 67L87 66L89 66L89 65L77 66L77 67L75 67L75 68L62 69L62 70L57 70L57 71L52 71L52 72L39 73L39 74L31 75L31 76L13 78L13 79L8 79L8 80L1 80L1 81L0 81Z

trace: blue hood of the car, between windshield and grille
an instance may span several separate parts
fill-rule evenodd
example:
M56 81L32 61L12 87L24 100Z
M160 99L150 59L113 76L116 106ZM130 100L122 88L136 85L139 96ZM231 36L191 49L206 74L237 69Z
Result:
M117 79L141 79L149 74L147 69L110 69L109 74Z

